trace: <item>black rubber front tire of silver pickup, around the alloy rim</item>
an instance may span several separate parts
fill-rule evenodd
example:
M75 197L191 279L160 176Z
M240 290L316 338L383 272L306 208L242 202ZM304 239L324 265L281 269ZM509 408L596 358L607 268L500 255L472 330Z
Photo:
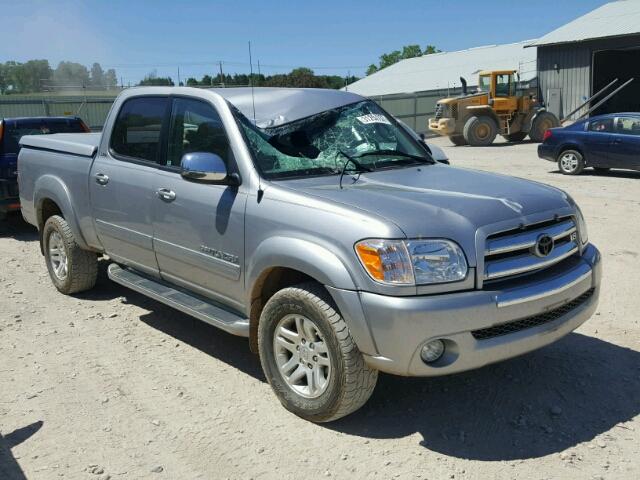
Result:
M326 357L323 358L328 359L331 365L325 377L325 389L312 398L295 391L278 367L278 361L282 363L299 355L293 361L294 367L288 376L292 377L300 367L306 370L306 364L299 363L305 362L300 360L303 355L300 345L297 348L300 353L291 353L291 357L284 360L282 351L276 352L274 346L277 327L288 318L300 316L313 323L318 337L313 341L323 344L323 350L326 349L323 353ZM302 338L305 336L306 333L303 333ZM304 344L304 340L300 341ZM305 356L313 344L307 342L306 347ZM258 351L264 374L278 400L290 412L312 422L330 422L359 409L371 396L378 379L378 371L364 362L347 324L327 291L313 282L285 288L269 299L260 316ZM317 357L313 359L315 361Z

